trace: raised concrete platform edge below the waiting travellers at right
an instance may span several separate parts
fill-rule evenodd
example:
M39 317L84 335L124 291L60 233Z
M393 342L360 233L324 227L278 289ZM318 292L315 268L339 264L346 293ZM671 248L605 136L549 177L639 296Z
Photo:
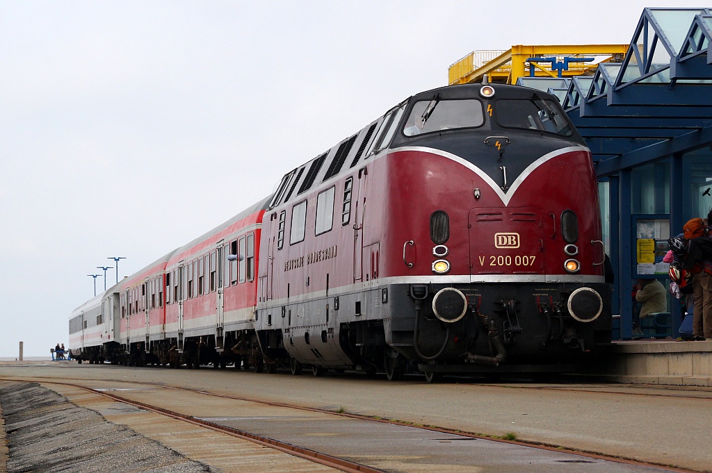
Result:
M617 383L712 387L712 340L617 341L594 372Z

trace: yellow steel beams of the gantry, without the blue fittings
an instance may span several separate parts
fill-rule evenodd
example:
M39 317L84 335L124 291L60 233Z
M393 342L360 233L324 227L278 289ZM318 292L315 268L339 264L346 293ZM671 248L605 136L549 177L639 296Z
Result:
M511 49L504 51L488 62L476 67L474 60L475 54L479 51L473 51L450 66L448 70L448 83L466 84L479 82L482 76L487 74L493 82L506 82L513 84L518 78L524 77L527 74L526 60L535 56L591 56L591 55L606 55L610 60L614 55L625 55L628 50L627 44L587 44L587 45L516 45ZM570 71L564 71L563 75L580 75L595 68L596 65L574 65ZM536 65L540 70L537 75L552 75L550 70L546 70L541 65Z

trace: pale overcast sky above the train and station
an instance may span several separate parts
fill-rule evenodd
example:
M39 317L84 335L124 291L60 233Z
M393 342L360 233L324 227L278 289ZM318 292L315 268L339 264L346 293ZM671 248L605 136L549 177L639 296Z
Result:
M629 43L688 1L0 0L0 356L474 50ZM108 271L108 286L115 270Z

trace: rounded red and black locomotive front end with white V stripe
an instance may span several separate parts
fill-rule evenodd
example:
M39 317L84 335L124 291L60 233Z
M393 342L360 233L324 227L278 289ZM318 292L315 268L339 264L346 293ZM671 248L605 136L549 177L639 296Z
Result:
M402 127L387 164L402 246L389 270L407 287L389 289L407 294L392 348L432 379L572 371L609 344L595 172L555 97L446 87L412 97Z

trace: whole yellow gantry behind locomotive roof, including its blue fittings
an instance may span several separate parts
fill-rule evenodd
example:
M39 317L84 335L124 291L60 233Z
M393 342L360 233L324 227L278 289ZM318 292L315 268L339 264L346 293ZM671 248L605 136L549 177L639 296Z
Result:
M512 46L507 51L473 51L448 69L448 84L515 84L520 77L571 77L592 73L599 63L622 62L627 44Z

